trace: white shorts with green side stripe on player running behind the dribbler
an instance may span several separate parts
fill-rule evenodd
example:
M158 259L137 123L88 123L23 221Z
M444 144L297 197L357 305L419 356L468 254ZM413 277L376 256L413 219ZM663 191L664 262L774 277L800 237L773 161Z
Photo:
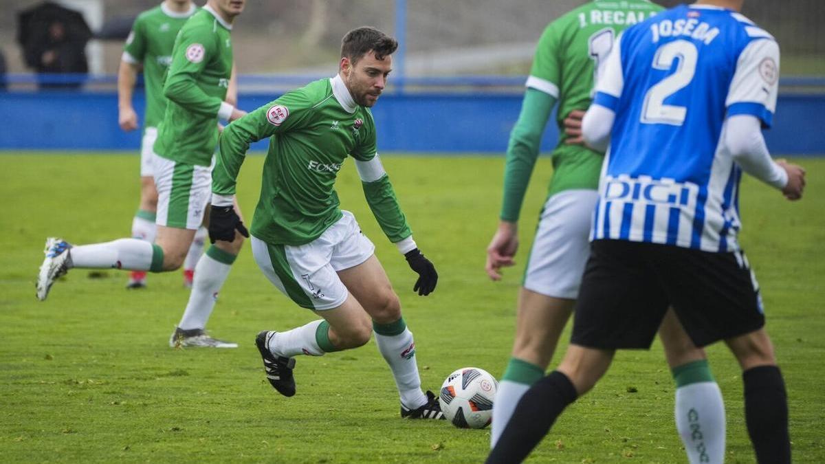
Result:
M212 167L153 159L158 215L155 224L197 230L212 196Z

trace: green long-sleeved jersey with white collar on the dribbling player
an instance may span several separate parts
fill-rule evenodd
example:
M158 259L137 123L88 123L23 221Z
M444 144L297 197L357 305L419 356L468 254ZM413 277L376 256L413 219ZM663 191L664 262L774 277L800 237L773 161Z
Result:
M380 167L372 113L352 100L338 76L288 92L227 125L212 192L235 193L249 144L266 137L269 151L251 232L269 244L308 244L341 218L334 185L347 156ZM375 219L391 242L408 238L412 232L383 168L375 177L362 180Z

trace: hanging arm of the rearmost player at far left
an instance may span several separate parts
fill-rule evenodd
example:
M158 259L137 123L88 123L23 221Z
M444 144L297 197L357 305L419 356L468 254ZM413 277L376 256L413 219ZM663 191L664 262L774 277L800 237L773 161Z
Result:
M134 84L138 81L140 64L145 54L146 36L143 21L136 19L123 45L120 67L117 70L117 122L120 129L127 132L138 128L138 114L134 112L132 96Z

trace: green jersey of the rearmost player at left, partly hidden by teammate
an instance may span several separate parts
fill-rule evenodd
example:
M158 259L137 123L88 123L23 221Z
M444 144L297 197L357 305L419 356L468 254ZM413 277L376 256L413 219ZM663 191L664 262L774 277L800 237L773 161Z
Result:
M197 11L191 5L188 12L172 12L165 4L140 13L123 47L123 60L144 65L146 112L144 127L157 127L163 121L166 98L163 97L163 74L172 63L172 45L177 31Z

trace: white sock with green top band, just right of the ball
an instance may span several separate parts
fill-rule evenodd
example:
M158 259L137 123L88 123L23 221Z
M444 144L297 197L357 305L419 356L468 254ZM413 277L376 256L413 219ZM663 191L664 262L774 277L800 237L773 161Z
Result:
M544 370L530 362L511 357L507 370L498 382L496 399L493 401L493 424L490 427L490 447L496 446L504 428L510 422L519 400L535 382L544 377Z

